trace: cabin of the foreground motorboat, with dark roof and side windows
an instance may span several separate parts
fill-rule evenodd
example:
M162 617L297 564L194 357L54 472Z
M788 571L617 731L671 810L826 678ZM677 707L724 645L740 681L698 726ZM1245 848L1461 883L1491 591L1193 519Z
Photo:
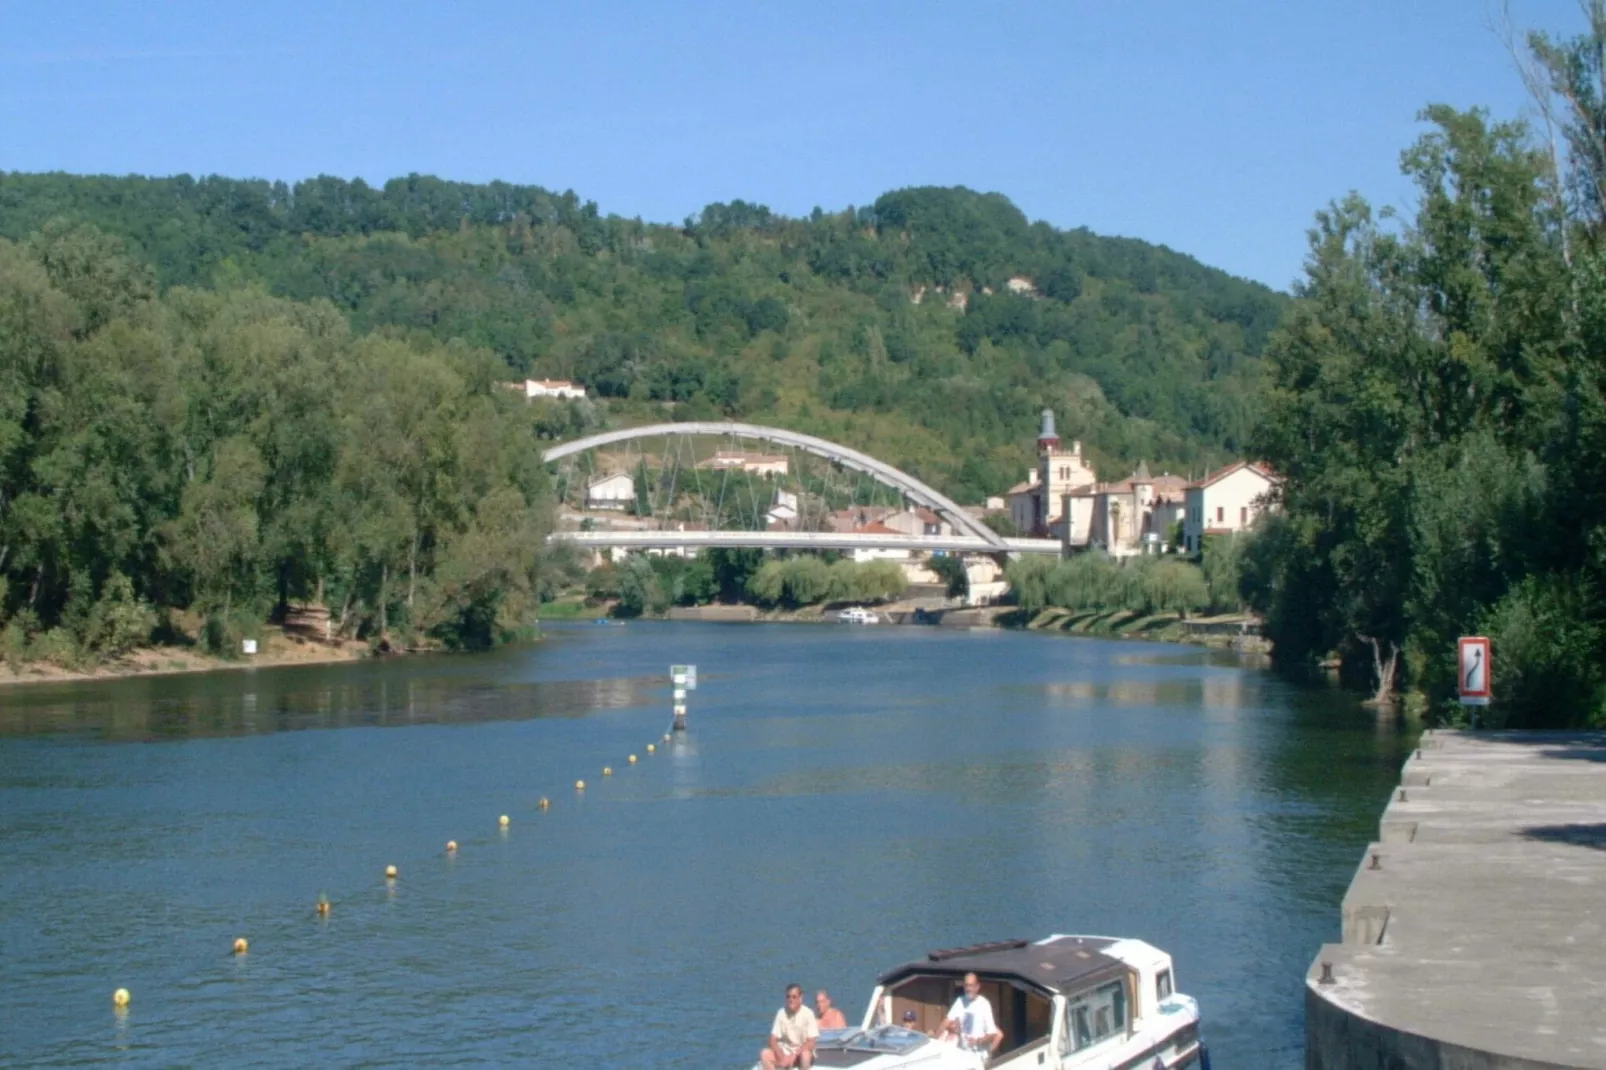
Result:
M1161 1015L1182 1011L1172 996L1171 956L1139 940L1055 935L1037 943L1004 940L933 951L878 978L864 1027L907 1025L936 1035L960 994L965 974L981 982L1004 1041L989 1067L1113 1065L1140 1033L1166 1043L1139 1051L1190 1065L1196 1027L1177 1035L1158 1028ZM1190 1004L1192 1006L1192 1004ZM906 1017L912 1012L912 1019ZM1190 1012L1192 1017L1192 1012ZM1195 1019L1196 1022L1196 1019ZM1180 1025L1176 1017L1166 1025ZM1124 1064L1123 1064L1124 1065Z

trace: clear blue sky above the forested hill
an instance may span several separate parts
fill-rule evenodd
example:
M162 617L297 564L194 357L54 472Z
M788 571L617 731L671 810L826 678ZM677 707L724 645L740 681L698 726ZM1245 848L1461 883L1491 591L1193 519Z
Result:
M1423 104L1524 111L1495 3L11 2L0 169L504 178L654 222L967 185L1286 288L1317 207L1408 199Z

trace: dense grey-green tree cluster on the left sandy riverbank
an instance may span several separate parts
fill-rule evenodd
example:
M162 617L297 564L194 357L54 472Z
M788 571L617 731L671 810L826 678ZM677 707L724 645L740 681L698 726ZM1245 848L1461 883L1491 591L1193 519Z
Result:
M567 567L503 370L355 334L326 300L161 294L90 227L0 239L0 614L61 662L125 652L172 607L233 654L271 606L318 598L349 635L495 641Z

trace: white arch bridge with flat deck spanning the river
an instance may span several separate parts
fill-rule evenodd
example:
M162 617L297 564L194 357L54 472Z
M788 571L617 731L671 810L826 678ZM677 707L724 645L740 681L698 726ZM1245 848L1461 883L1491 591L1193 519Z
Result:
M758 485L753 479L744 479L740 463L734 466L715 466L710 472L710 458L699 456L695 447L687 445L694 439L724 439L732 443L742 440L782 447L789 453L787 466L797 469L795 482L789 484L793 492L782 492L774 480ZM657 455L636 455L636 447L652 440L660 440L665 448ZM618 448L623 447L623 456ZM560 485L565 487L564 498L577 487L581 495L588 495L586 480L580 479L573 466L580 458L596 458L613 450L610 468L613 477L620 474L633 476L638 487L634 492L639 501L631 501L631 511L650 514L654 521L641 516L631 521L612 521L602 517L604 529L597 530L560 530L551 538L567 538L578 545L620 549L671 549L671 548L766 548L766 549L899 549L899 551L941 551L968 554L1058 554L1060 543L1050 538L1005 538L991 527L962 509L951 498L915 479L914 476L878 461L874 456L850 447L829 442L814 435L782 427L763 427L758 424L742 424L729 421L691 421L673 424L647 424L610 431L585 439L575 439L546 450L543 458L549 464L564 464L565 472ZM745 456L732 453L732 456ZM718 458L718 455L716 455ZM716 461L715 458L715 461ZM792 464L797 458L797 464ZM805 458L814 461L816 472L805 477ZM650 459L650 471L649 471ZM781 459L781 458L771 458ZM824 461L824 464L819 464ZM732 485L732 469L737 480ZM593 471L599 471L593 468ZM851 476L859 477L859 485L851 487ZM594 482L594 480L591 480ZM869 492L867 492L869 487ZM737 501L745 490L747 511L732 509L731 501ZM874 500L877 493L891 492L901 504L914 503L935 513L946 529L941 533L898 533L898 532L858 532L829 530L829 506L832 503L848 503L862 508L866 500ZM760 495L764 501L760 501ZM787 500L790 517L785 522L774 522L774 503ZM585 504L585 503L583 503ZM853 506L850 506L851 511ZM679 517L679 521L676 521ZM766 522L766 517L771 517ZM691 519L692 524L686 521ZM708 522L700 522L708 521ZM593 517L593 524L597 519ZM591 527L591 525L586 525ZM729 529L740 530L729 530ZM719 529L719 530L715 530Z

